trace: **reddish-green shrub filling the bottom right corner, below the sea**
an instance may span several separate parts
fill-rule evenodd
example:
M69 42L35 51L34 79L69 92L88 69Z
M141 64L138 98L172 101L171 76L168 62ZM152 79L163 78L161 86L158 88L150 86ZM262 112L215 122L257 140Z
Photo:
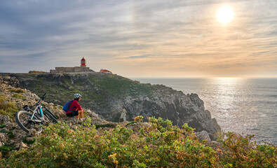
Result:
M277 167L277 146L272 144L256 144L245 136L228 132L221 137L224 155L220 163L225 167Z

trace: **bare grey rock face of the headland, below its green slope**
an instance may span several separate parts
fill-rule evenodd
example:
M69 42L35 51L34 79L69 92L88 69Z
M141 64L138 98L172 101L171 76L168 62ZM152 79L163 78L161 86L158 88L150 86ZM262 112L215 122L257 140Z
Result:
M103 114L104 118L124 121L133 120L135 116L161 117L179 127L188 123L196 132L205 130L211 139L216 139L214 134L220 127L215 118L211 118L210 111L205 110L204 102L197 94L184 94L163 85L155 88L150 96L126 97L112 102L114 113Z

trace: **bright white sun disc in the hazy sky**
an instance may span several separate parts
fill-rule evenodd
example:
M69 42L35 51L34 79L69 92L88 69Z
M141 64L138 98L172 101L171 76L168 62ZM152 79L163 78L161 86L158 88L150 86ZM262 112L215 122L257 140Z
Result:
M217 20L222 24L231 22L234 18L234 11L230 6L222 6L217 10Z

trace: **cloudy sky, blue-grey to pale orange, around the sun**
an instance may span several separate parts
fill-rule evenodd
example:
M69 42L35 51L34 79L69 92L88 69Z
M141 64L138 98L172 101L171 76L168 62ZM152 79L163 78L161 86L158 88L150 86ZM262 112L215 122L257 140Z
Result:
M228 6L231 22L217 20ZM1 0L0 72L277 77L276 0Z

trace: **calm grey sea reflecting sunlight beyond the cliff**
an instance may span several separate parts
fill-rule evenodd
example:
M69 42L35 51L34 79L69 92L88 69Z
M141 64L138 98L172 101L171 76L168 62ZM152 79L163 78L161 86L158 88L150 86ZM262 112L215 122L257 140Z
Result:
M132 78L196 93L224 132L277 145L277 78Z

